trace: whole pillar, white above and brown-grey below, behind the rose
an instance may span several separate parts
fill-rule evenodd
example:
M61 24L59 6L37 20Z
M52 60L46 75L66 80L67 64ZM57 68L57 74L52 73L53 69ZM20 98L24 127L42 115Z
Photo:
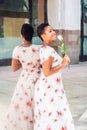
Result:
M80 55L80 0L48 0L48 21L62 34L71 64Z

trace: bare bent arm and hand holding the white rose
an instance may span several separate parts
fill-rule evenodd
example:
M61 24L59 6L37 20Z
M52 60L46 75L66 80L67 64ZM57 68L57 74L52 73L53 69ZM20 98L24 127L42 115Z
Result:
M66 66L70 63L70 60L69 60L68 56L64 56L62 63L56 67L52 67L52 62L53 62L53 57L50 56L49 59L46 60L42 64L42 68L43 68L45 76L50 76L50 75L60 71L62 68L64 68L64 66Z

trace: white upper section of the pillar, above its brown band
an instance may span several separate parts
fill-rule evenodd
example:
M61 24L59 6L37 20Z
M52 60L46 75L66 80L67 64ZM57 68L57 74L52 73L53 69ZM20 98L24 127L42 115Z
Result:
M80 0L48 0L48 21L55 29L80 29Z

